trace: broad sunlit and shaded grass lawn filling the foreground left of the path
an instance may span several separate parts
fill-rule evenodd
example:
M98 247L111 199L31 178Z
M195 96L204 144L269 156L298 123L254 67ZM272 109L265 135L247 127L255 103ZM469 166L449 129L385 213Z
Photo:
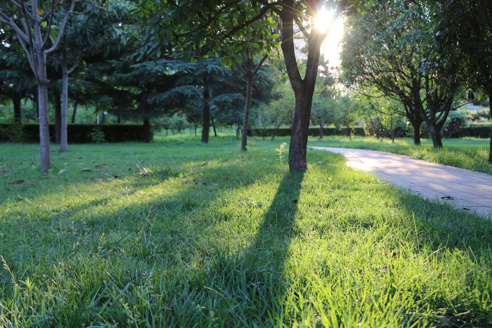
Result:
M491 327L490 220L327 151L289 174L288 138L186 139L53 146L48 175L0 146L0 327Z

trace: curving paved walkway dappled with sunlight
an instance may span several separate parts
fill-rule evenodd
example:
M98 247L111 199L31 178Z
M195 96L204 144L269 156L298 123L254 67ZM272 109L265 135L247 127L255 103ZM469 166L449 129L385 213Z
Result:
M386 151L311 148L342 153L353 168L374 173L399 187L410 188L423 197L455 204L457 209L475 209L485 215L491 214L492 175L425 162Z

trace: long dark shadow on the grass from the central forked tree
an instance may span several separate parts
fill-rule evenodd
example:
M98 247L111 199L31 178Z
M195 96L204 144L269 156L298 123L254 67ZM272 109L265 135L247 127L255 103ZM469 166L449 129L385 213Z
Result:
M215 298L216 307L228 318L227 325L281 324L289 288L284 267L289 245L299 235L296 220L303 179L304 173L286 173L251 243L236 253L218 249L213 266L193 278L190 290L201 290L202 299ZM212 287L204 289L205 281ZM255 317L246 319L245 312Z

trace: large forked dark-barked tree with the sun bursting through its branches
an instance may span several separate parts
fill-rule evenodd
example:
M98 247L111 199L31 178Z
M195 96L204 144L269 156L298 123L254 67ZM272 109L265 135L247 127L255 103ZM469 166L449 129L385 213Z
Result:
M260 28L277 28L270 16L278 17L281 23L281 49L287 75L294 90L295 114L292 136L289 145L290 171L306 171L307 137L309 120L317 78L321 44L326 38L333 22L342 13L351 13L364 1L305 1L305 0L183 0L179 2L154 2L142 0L140 11L142 20L155 22L156 26L142 33L147 46L141 55L160 56L162 51L179 53L193 59L205 58L219 52L223 44L234 42L236 54L246 53L248 43L241 40L251 25L260 21L255 31L259 37L271 35ZM330 15L331 14L331 15ZM164 17L164 19L162 19ZM233 19L231 19L233 17ZM319 20L316 18L319 17ZM256 27L256 25L255 25ZM308 31L310 29L310 32ZM296 60L294 33L300 30L307 40L308 54L304 78L301 76ZM157 36L161 35L161 36ZM175 42L172 42L174 40ZM176 41L179 43L177 44ZM262 41L265 41L262 39ZM259 42L268 53L276 44ZM189 55L186 55L189 54ZM228 66L235 66L230 60Z

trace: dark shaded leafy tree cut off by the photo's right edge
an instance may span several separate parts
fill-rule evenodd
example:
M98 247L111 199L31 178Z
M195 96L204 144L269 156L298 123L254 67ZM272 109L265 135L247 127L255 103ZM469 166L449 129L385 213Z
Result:
M466 84L492 96L492 6L490 0L427 1L436 22L436 53L461 67ZM489 103L492 113L492 103ZM492 130L489 163L492 163Z

